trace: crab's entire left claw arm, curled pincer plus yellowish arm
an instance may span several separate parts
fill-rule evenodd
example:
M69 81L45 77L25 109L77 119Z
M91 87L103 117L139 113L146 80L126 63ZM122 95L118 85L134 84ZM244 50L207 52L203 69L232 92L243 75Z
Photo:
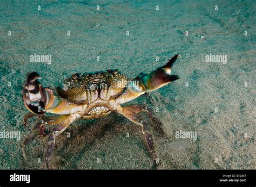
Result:
M39 74L31 73L23 89L24 104L30 112L38 115L46 112L71 114L84 110L85 106L68 102L68 100L54 95L51 89L42 87L39 79L41 79Z

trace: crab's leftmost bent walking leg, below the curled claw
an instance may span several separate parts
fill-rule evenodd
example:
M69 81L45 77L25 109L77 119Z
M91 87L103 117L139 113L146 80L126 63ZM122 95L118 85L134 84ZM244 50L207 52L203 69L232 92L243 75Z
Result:
M64 116L58 116L58 117L45 117L43 120L38 121L38 123L35 125L33 130L29 133L28 136L26 136L25 140L22 143L22 155L24 159L26 160L26 152L25 152L25 147L33 141L33 139L36 138L36 135L42 135L44 136L44 130L45 130L45 125L55 125L55 124L60 124L62 123L63 120L68 118L67 115Z

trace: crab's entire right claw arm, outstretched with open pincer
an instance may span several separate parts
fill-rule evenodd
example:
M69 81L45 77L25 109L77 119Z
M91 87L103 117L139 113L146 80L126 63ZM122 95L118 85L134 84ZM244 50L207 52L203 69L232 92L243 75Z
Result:
M150 74L140 73L134 81L134 85L132 88L127 88L125 92L120 95L114 103L122 104L129 102L130 100L143 95L145 92L150 92L164 85L169 84L173 81L178 80L180 77L178 75L171 75L171 69L173 63L177 60L180 55L175 55L172 57L169 62L165 66L157 68L152 71Z

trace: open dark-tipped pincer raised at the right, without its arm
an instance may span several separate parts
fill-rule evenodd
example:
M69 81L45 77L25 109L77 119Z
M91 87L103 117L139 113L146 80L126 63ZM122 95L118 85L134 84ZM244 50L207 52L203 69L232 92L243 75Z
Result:
M171 69L174 62L178 59L180 55L175 55L172 57L165 66L157 68L150 74L140 73L134 80L139 81L139 87L134 89L134 91L153 91L163 87L164 85L178 80L180 77L178 75L171 75Z

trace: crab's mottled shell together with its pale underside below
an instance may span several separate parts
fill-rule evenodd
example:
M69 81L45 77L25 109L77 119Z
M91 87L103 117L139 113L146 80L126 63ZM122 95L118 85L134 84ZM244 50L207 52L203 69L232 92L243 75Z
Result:
M127 77L119 70L107 70L94 74L73 74L57 88L58 95L71 103L86 105L83 118L92 119L111 113L109 100L120 96Z

